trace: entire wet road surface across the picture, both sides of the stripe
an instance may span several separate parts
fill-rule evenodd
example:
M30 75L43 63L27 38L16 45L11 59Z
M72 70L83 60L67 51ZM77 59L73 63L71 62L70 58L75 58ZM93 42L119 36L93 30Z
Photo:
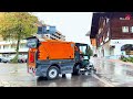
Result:
M38 79L27 73L27 64L0 63L0 86L4 87L133 87L133 65L92 58L95 76L60 77L55 80Z

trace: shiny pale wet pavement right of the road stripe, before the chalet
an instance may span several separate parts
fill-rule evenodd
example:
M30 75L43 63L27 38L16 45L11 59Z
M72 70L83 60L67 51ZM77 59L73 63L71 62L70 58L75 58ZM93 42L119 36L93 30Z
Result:
M93 58L98 76L115 86L133 86L133 66L108 59Z

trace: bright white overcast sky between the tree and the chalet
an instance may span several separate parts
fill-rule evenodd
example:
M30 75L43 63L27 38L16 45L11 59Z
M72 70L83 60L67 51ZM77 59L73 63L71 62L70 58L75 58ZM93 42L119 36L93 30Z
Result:
M66 41L90 44L85 34L91 30L92 12L33 12L45 24L55 25Z

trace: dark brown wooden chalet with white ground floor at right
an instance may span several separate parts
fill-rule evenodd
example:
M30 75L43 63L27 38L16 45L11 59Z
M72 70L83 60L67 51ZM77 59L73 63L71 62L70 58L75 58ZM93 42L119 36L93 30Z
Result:
M99 57L120 58L121 55L129 55L122 48L127 44L133 48L133 13L93 13L90 38ZM133 52L132 48L130 52Z

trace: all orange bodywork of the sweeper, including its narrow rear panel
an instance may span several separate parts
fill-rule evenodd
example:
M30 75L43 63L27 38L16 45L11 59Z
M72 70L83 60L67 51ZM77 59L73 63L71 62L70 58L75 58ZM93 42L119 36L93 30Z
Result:
M73 59L74 47L75 47L75 44L73 42L61 42L61 41L54 41L54 40L41 42L38 48L29 48L28 66L29 68L30 67L35 68L37 58L38 61Z

